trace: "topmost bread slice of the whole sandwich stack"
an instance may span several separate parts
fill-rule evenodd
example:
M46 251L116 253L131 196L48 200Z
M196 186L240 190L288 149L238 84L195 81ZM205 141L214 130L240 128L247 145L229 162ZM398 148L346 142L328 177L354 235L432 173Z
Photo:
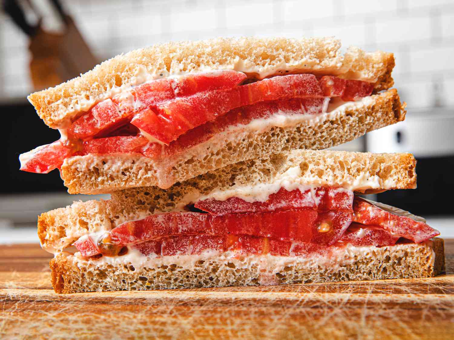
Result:
M338 75L375 83L375 91L394 81L392 53L351 47L342 55L334 38L217 38L170 42L118 55L92 71L28 99L52 128L67 128L95 103L148 80L189 72L233 69L263 79L290 73Z

